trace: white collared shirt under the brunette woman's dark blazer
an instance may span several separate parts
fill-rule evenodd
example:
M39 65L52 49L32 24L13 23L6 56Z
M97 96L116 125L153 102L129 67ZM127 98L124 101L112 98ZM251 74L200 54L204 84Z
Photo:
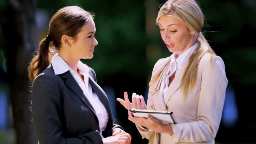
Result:
M55 75L60 75L69 71L71 75L74 77L77 84L83 90L84 96L86 96L86 98L91 103L91 105L93 106L93 109L96 112L96 115L99 120L101 138L104 138L102 136L102 131L104 131L105 128L107 127L109 115L107 113L107 109L104 107L102 102L99 100L99 97L97 96L97 94L91 88L91 85L89 83L89 71L90 71L89 67L86 64L83 64L81 61L78 61L77 69L79 70L80 74L83 75L84 77L84 80L82 80L81 77L77 74L77 72L72 70L68 66L68 64L58 55L58 53L56 53L53 56L53 59L51 60L51 64L53 66Z

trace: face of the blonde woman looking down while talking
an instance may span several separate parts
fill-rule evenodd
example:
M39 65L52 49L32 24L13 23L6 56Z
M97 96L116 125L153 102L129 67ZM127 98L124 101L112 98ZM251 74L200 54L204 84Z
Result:
M174 16L160 17L158 26L161 37L171 53L175 52L179 56L196 43L195 35Z

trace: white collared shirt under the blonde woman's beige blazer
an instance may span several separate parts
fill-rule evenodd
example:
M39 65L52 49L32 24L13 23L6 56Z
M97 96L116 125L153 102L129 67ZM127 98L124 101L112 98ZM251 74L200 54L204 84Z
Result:
M165 79L165 87L163 89L163 100L165 97L165 92L167 91L169 86L169 78L173 75L174 72L175 72L175 75L177 75L179 70L182 67L184 67L184 64L186 64L191 54L197 48L197 45L198 43L195 43L195 45L193 45L192 47L190 47L189 49L181 53L180 56L178 56L177 53L175 52L171 55L171 62L170 62L170 66L168 68L168 73L167 73L168 76Z

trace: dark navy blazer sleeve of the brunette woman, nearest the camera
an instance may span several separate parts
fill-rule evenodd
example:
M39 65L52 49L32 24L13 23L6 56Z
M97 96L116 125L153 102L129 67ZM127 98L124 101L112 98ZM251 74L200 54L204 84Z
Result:
M98 131L64 137L61 126L61 89L57 81L40 74L32 87L32 116L40 144L103 144Z

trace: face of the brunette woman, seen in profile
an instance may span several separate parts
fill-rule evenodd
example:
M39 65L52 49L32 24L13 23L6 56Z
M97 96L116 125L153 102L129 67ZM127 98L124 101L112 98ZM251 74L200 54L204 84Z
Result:
M96 27L93 19L83 25L81 31L77 34L77 40L72 44L74 56L79 59L92 59L94 47L98 45L95 36Z

